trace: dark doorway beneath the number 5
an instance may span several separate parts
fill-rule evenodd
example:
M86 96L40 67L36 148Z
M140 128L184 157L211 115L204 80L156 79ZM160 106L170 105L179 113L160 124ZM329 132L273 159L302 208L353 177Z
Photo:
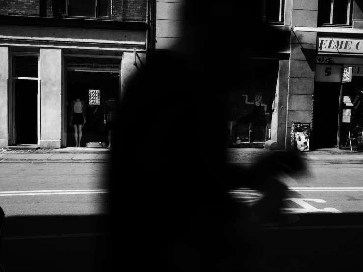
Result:
M315 82L312 149L336 146L340 86L341 83Z

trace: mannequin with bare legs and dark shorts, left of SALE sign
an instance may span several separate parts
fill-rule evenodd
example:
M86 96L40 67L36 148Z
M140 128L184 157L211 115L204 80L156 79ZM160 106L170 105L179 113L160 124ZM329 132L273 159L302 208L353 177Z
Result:
M72 101L69 109L70 126L74 129L74 139L76 140L76 147L81 147L82 127L85 124L87 115L86 106L83 100L79 99L79 95L75 95L75 100Z

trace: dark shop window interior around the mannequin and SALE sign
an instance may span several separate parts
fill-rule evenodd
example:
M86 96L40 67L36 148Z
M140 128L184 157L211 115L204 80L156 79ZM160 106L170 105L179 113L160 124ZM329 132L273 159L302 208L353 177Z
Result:
M100 90L100 105L89 105L88 91ZM87 108L86 123L82 128L81 147L87 142L105 142L108 144L107 129L103 123L103 104L113 98L119 100L119 73L111 72L67 72L67 112L75 100L74 95L78 93L80 100L83 100ZM69 119L69 116L67 116ZM69 121L67 119L67 124ZM73 127L67 129L67 147L76 145L73 136Z

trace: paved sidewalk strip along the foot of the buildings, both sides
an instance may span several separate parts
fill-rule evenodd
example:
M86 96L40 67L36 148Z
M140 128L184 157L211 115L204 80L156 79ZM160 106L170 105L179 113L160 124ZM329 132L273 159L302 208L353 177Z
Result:
M228 148L227 163L252 164L272 152L261 148ZM0 149L0 163L109 163L109 148L61 148L37 150ZM363 152L340 149L321 149L300 152L306 163L363 163Z

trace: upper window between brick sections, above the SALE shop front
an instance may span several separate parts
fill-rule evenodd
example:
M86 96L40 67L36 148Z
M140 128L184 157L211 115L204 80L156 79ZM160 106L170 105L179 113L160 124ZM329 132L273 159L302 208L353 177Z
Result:
M110 19L111 0L58 0L62 17Z

